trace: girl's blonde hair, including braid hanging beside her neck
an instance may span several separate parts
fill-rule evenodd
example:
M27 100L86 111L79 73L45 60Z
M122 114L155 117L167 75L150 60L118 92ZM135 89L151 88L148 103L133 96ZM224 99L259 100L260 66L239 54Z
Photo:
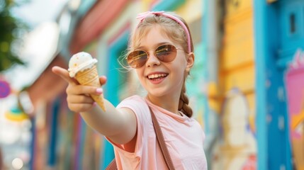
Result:
M189 30L188 25L186 21L184 21L183 18L180 16L177 16L175 13L169 13L172 16L175 16L176 18L179 18L180 21L182 21L186 28ZM186 32L184 28L174 21L171 18L168 18L166 16L160 15L154 15L151 14L144 18L138 25L137 28L134 30L133 34L130 37L130 41L128 44L128 51L133 51L135 48L137 48L140 45L140 41L145 38L145 35L152 29L153 26L159 26L160 30L167 35L168 38L170 38L172 41L178 43L181 45L183 50L185 52L188 52L188 38L186 35ZM190 33L189 33L190 34ZM191 44L191 52L193 52L193 41L190 34L190 44ZM179 97L179 111L183 112L185 115L187 115L189 118L192 116L192 109L190 106L188 106L189 100L188 96L186 95L186 77L188 76L188 72L185 71L184 74L184 84L181 88L181 96Z

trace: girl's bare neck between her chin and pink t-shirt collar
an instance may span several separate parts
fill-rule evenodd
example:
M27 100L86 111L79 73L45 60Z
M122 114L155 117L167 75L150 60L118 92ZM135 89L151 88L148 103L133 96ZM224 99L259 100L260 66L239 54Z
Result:
M171 113L176 113L177 115L181 115L178 111L179 109L179 97L176 96L151 96L147 94L147 100L153 103L156 106L164 108Z

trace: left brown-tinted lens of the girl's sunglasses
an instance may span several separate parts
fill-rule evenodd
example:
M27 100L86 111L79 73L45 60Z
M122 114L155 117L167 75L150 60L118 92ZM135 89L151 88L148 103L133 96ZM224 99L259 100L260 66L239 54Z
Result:
M142 50L133 51L128 55L127 61L130 67L140 68L147 62L147 52Z

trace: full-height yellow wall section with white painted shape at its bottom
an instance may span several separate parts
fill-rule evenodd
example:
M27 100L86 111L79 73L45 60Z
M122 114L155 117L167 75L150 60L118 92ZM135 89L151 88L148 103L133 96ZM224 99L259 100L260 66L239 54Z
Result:
M211 168L257 169L253 5L252 1L225 1L218 8L223 13L223 36L218 81L209 82L213 102L209 106L218 114Z

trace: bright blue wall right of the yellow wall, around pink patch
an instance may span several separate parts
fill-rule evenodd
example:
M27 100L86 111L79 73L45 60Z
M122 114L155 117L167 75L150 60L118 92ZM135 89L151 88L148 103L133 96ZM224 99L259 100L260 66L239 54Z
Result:
M254 1L259 169L299 169L289 138L294 101L287 96L295 89L287 88L286 72L297 49L303 48L303 4L302 0Z

